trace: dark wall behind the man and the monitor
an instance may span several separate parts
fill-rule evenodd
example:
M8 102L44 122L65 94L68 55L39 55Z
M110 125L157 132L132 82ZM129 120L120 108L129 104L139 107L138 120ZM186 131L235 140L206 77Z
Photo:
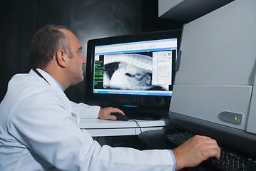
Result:
M71 28L83 46L92 38L180 29L183 22L158 18L158 0L4 0L0 6L0 101L16 73L28 73L30 41L46 24ZM84 81L66 90L75 102L84 99Z

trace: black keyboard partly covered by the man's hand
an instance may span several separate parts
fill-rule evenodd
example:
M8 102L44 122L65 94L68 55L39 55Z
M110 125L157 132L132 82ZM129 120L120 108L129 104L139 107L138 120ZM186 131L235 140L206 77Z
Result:
M168 142L174 145L181 145L186 140L192 138L194 135L187 131L181 130L180 132L175 131L174 133L165 133L165 138ZM220 146L221 155L220 160L215 160L214 158L209 158L205 162L213 165L218 170L225 171L253 171L256 170L256 160L252 158L244 157L243 155L232 152L225 147Z

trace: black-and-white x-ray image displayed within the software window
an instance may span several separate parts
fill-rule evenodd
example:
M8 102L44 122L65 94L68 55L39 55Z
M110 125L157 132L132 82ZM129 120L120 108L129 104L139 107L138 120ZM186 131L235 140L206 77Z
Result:
M153 85L153 57L128 53L104 55L103 88L117 90L168 90L168 85Z

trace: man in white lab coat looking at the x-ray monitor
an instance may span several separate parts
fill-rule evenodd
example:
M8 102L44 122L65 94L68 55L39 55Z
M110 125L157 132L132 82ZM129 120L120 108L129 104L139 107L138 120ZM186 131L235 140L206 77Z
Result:
M86 59L72 31L41 28L31 42L33 69L9 82L0 104L0 170L179 170L220 157L215 140L195 136L175 150L135 150L93 141L79 118L115 120L117 108L68 100L68 86L83 81Z

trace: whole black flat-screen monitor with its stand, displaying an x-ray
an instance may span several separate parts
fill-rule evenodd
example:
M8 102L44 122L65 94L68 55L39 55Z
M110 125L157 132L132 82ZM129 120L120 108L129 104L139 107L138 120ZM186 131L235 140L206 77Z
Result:
M148 120L157 119L157 110L168 111L180 34L157 31L89 40L86 103Z

